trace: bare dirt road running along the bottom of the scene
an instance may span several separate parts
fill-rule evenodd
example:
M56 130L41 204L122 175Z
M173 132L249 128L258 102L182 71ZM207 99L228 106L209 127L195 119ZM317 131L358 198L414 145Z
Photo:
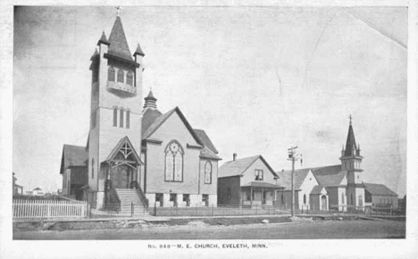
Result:
M145 225L128 230L15 231L13 239L405 238L405 221L303 221L235 226Z

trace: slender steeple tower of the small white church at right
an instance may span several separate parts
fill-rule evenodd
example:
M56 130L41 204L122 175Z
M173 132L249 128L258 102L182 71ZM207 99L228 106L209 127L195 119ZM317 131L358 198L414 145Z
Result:
M355 143L351 114L349 119L346 148L343 146L339 159L341 170L347 171L347 205L351 206L349 209L364 210L363 156L360 155L360 145L357 146Z

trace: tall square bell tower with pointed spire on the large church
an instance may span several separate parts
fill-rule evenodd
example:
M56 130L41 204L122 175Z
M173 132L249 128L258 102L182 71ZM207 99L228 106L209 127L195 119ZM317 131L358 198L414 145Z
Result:
M90 65L88 199L96 207L102 207L104 192L106 188L112 188L111 183L115 181L112 179L112 169L117 166L114 164L114 155L121 160L116 150L118 145L124 146L125 150L129 146L131 154L136 157L141 148L142 59L145 54L139 44L136 51L130 53L119 9L109 38L102 33ZM124 159L130 161L126 162L130 171L121 179L127 182L126 187L129 188L137 180L136 174L141 163L138 159L128 159L128 155L122 152L119 155L125 155ZM119 180L116 181L119 183Z

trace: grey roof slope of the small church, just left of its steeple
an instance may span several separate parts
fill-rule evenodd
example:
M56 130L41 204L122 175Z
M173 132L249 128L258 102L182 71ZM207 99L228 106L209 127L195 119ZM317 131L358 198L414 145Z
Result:
M339 186L347 174L347 171L341 171L341 164L313 168L312 172L324 187Z

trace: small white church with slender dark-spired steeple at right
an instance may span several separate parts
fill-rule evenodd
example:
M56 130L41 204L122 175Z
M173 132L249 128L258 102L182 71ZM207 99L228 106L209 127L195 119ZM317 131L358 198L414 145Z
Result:
M353 125L348 126L346 146L340 164L295 171L294 187L300 210L364 210L364 182L360 145L355 142ZM279 184L290 196L291 171L278 171ZM289 200L289 199L287 199Z

